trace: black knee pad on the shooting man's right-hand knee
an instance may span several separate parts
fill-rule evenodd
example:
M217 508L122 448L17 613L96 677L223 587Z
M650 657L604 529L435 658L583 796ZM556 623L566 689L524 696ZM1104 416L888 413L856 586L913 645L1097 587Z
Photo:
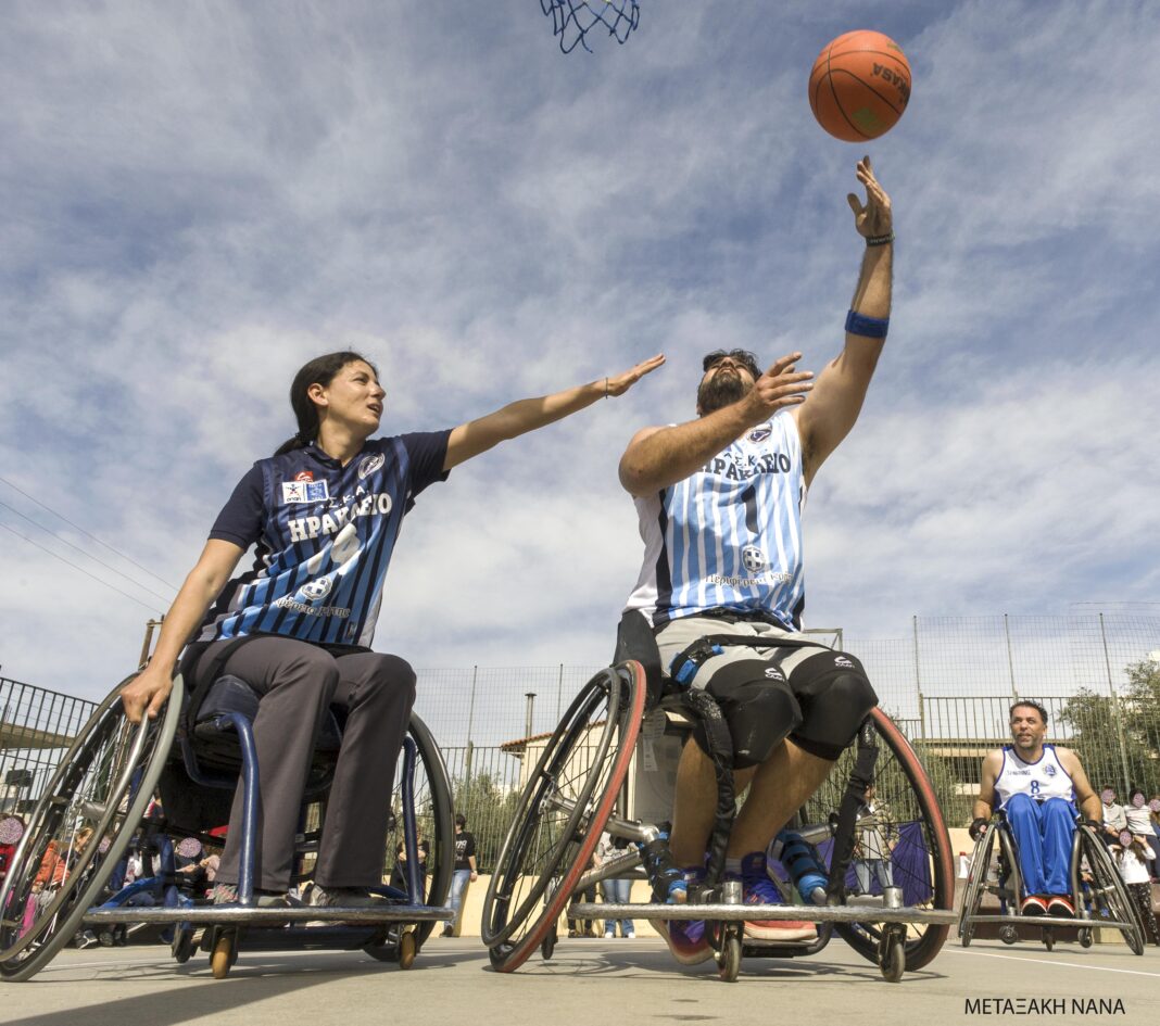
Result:
M792 736L811 755L833 762L878 704L862 663L842 652L810 656L790 675L805 718Z

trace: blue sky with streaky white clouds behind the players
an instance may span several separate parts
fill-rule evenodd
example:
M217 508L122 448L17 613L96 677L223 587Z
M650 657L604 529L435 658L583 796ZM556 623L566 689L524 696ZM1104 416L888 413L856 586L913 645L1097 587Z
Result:
M346 347L387 432L667 354L426 493L377 638L425 668L606 661L641 551L629 437L693 415L708 349L841 345L862 147L806 79L855 28L914 92L868 147L896 308L810 496L807 621L1160 597L1160 5L641 0L626 45L568 56L536 0L2 20L6 677L126 672L292 432L295 370Z

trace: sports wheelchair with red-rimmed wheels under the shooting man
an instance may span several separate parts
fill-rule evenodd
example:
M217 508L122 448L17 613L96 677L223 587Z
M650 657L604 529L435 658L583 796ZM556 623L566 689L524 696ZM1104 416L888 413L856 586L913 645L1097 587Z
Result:
M792 824L817 846L828 869L825 907L744 905L740 886L720 882L735 800L732 773L717 758L719 794L708 886L690 890L688 904L661 903L655 867L666 858L672 865L664 820L672 807L676 761L690 720L712 716L716 710L703 691L673 686L660 683L655 669L650 679L640 662L629 660L593 677L565 713L528 773L484 900L481 933L493 967L514 972L537 947L551 959L565 909L578 919L705 919L718 973L730 982L737 980L742 956L813 954L835 932L876 962L887 980L927 965L955 921L950 841L921 763L878 710ZM654 700L646 703L650 692ZM629 779L633 756L636 774ZM530 758L529 752L529 764ZM730 765L731 759L732 751ZM896 810L900 832L892 863L901 886L855 897L850 856L869 784L876 784ZM602 831L632 844L623 857L586 872ZM574 895L597 881L617 878L650 880L653 903L568 907ZM783 894L795 893L780 883ZM818 924L817 940L752 940L744 934L745 919L806 919Z

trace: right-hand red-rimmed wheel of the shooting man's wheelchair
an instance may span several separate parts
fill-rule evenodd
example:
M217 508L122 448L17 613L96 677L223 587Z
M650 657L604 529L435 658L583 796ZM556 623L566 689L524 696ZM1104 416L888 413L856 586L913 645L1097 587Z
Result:
M950 836L934 787L914 749L890 716L878 708L872 710L870 715L878 747L875 791L878 800L889 808L891 832L897 831L897 843L891 852L894 885L902 888L907 907L949 911L955 907L955 868ZM829 813L839 808L854 758L855 750L847 749L826 784L807 803L804 812L812 822L826 823ZM834 929L864 959L879 962L878 945L885 926L835 923ZM926 966L938 954L949 932L949 924L907 925L902 945L906 967L921 969Z

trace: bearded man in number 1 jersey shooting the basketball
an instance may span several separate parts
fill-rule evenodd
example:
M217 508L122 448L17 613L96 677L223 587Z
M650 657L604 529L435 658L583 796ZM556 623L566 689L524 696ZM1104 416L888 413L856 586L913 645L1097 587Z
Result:
M697 417L638 431L621 459L645 541L644 567L622 623L655 636L660 662L686 687L720 705L733 741L735 786L751 788L726 851L726 879L749 904L782 901L766 846L821 785L877 704L861 663L798 633L805 605L802 507L814 474L857 420L886 339L893 232L890 197L857 165L863 205L850 194L865 254L846 319L846 345L812 380L800 352L764 373L745 350L704 358ZM641 618L644 623L641 623ZM647 626L645 626L645 624ZM711 648L706 635L768 639L768 647ZM677 769L670 846L686 879L704 875L717 805L712 763L696 732ZM817 872L812 850L783 831L781 860L796 882ZM824 873L824 871L822 871ZM799 889L803 889L799 886ZM681 901L681 885L670 888ZM712 955L702 922L664 930L682 962ZM748 938L809 940L810 923L746 923Z

